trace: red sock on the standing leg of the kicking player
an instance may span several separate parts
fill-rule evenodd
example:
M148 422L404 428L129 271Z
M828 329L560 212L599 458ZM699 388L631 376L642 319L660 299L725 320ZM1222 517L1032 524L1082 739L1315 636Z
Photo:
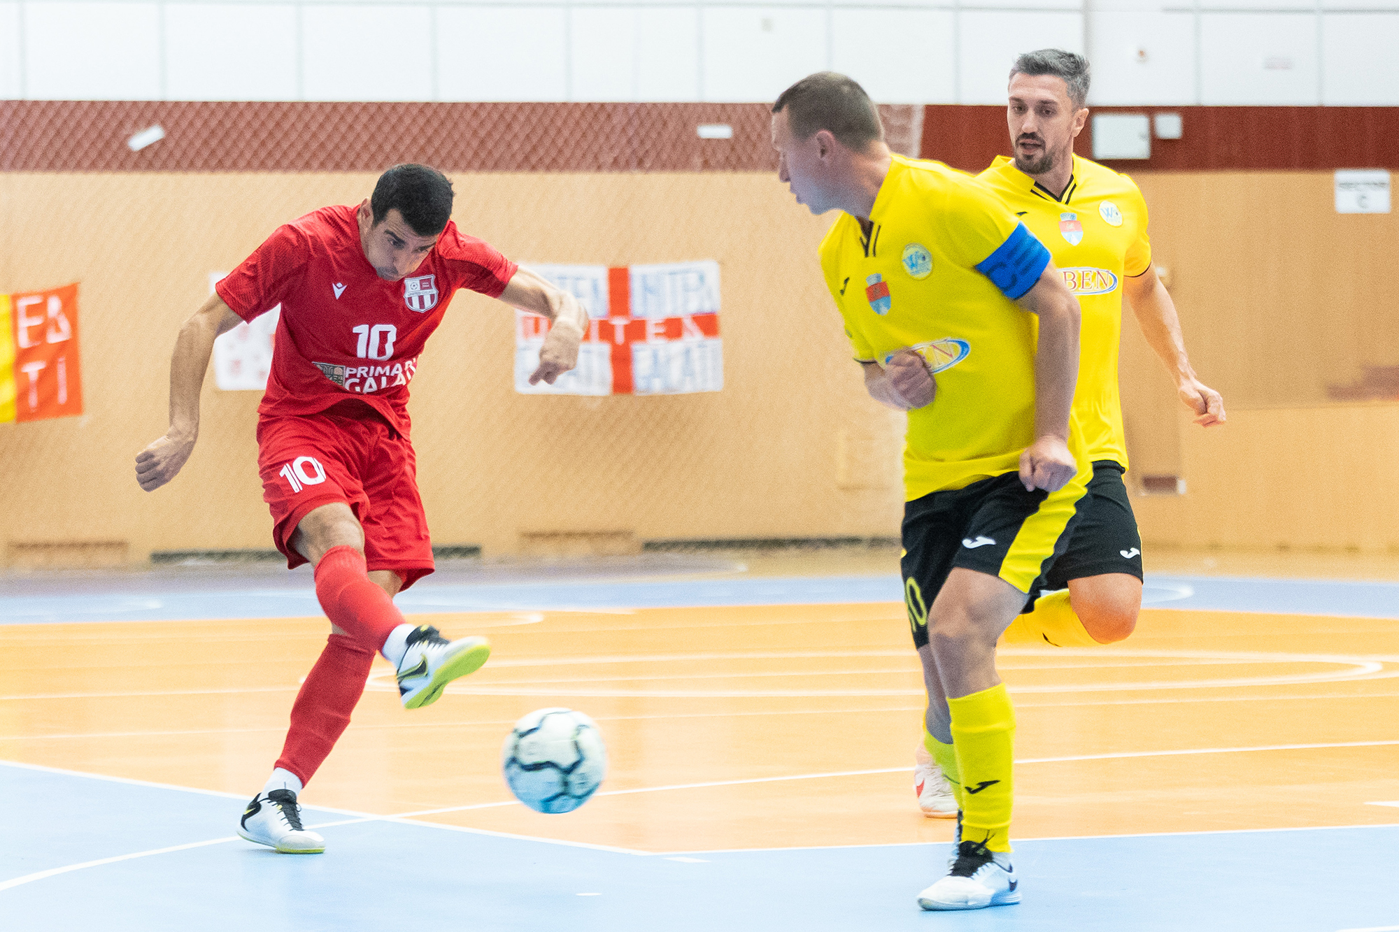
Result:
M311 668L306 682L297 693L297 701L291 707L291 728L287 729L287 742L281 746L276 767L285 767L297 774L302 785L311 782L350 725L350 712L364 694L372 663L374 651L367 651L343 634L330 635L320 659Z

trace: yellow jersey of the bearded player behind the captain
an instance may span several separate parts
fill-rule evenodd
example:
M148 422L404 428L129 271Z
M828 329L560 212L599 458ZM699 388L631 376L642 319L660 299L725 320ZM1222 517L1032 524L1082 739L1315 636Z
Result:
M1146 202L1126 175L1073 157L1073 176L1059 197L1041 188L1016 162L997 155L978 178L1049 248L1083 312L1079 327L1076 427L1090 460L1128 465L1118 393L1118 341L1122 336L1122 278L1151 267Z

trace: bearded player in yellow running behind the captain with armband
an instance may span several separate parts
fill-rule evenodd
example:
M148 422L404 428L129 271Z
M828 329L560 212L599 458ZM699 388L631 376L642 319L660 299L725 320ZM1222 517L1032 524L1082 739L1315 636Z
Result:
M1093 462L1081 516L1069 550L1035 586L1034 610L1006 630L1007 644L1093 647L1121 641L1142 607L1142 537L1122 481L1128 467L1118 396L1122 298L1165 364L1196 423L1224 423L1219 392L1203 385L1185 355L1171 295L1157 278L1142 192L1126 175L1073 154L1088 118L1088 63L1059 49L1028 52L1010 71L1007 122L1014 158L997 157L986 182L1053 256L1079 298L1079 388L1074 423ZM1028 609L1028 606L1027 606ZM914 789L928 816L957 813L956 792L923 736Z

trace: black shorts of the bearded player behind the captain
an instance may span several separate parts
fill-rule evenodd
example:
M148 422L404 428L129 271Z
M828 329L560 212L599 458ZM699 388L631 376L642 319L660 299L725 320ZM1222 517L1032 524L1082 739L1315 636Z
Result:
M1063 589L1069 579L1126 572L1142 578L1142 532L1132 514L1123 469L1111 459L1093 465L1088 494L1073 526L1069 549L1056 557L1034 591Z

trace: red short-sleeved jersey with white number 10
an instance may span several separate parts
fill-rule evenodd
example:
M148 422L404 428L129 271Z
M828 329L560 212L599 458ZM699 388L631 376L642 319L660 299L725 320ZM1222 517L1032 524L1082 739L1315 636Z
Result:
M262 417L315 414L355 397L409 432L409 382L457 288L501 297L515 263L446 230L402 281L364 257L354 207L322 207L277 231L215 285L243 320L281 305Z

